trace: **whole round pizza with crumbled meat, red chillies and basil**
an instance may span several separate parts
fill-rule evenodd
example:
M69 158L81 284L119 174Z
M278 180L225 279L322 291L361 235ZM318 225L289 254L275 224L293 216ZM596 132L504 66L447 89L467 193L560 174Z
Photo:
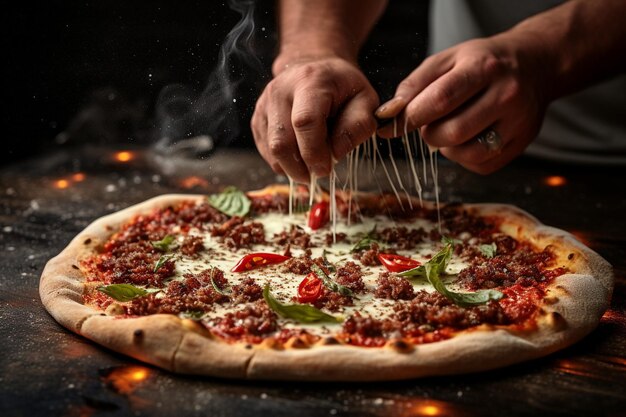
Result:
M612 288L597 253L510 205L272 185L100 218L40 295L71 331L169 371L368 381L545 356L597 326Z

